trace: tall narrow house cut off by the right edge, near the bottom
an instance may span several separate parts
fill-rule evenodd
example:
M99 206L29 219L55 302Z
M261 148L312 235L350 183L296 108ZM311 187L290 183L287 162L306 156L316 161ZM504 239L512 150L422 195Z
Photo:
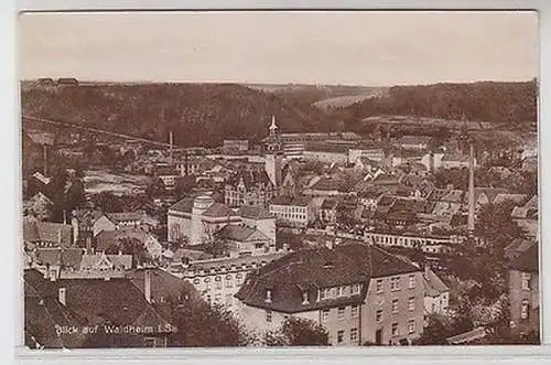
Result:
M539 333L540 282L538 245L534 244L509 264L509 308L512 334Z

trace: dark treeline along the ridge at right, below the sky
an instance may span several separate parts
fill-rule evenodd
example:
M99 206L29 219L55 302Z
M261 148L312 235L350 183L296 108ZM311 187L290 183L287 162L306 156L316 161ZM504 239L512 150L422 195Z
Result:
M537 98L537 79L525 83L393 86L389 88L388 96L334 108L332 115L344 119L348 126L358 125L363 118L380 115L533 122L538 120Z

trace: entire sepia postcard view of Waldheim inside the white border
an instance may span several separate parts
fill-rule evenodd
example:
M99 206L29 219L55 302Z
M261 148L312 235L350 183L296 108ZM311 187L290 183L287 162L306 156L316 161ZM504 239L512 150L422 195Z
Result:
M536 11L18 33L28 348L540 344Z

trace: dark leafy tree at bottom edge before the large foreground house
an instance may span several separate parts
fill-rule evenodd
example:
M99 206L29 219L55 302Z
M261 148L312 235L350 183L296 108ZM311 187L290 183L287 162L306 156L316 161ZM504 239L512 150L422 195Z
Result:
M328 346L327 331L314 321L291 316L280 329L268 332L268 346Z

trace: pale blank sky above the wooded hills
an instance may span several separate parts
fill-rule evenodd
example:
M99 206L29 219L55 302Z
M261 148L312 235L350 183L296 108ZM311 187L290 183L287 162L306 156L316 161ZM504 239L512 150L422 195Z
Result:
M538 76L536 12L25 13L21 78L417 85Z

